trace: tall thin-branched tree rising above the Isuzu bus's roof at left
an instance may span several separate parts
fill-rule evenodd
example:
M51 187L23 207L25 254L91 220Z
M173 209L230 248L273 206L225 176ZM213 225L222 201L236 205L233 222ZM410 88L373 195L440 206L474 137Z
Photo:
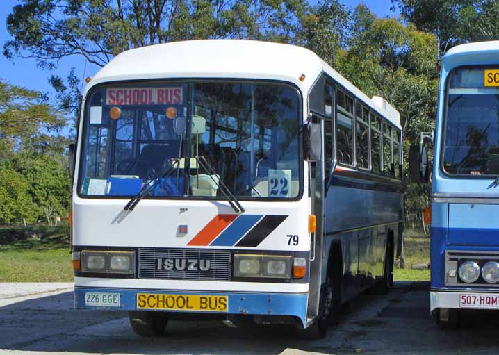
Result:
M22 0L8 15L8 58L56 67L81 55L104 66L127 49L178 40L293 42L304 0Z

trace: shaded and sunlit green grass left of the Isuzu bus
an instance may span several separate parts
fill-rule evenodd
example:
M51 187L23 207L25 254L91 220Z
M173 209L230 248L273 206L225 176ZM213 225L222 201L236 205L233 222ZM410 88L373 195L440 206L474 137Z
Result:
M0 282L72 279L66 226L0 227Z

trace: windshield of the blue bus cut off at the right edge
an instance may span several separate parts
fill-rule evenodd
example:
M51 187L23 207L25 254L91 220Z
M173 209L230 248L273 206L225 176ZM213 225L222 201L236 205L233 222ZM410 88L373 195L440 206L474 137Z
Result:
M448 83L443 170L499 175L499 88L485 85L484 69L457 69Z

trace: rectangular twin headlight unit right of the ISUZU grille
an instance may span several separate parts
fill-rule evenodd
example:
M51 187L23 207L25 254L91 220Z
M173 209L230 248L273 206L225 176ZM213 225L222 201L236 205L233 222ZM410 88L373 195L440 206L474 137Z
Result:
M236 254L234 277L290 279L291 256Z

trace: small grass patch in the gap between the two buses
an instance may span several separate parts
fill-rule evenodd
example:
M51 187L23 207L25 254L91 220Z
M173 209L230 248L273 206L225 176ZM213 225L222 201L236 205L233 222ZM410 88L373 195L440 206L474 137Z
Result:
M414 231L404 233L405 268L395 267L395 281L429 281L430 270L413 270L414 264L430 263L430 236Z

